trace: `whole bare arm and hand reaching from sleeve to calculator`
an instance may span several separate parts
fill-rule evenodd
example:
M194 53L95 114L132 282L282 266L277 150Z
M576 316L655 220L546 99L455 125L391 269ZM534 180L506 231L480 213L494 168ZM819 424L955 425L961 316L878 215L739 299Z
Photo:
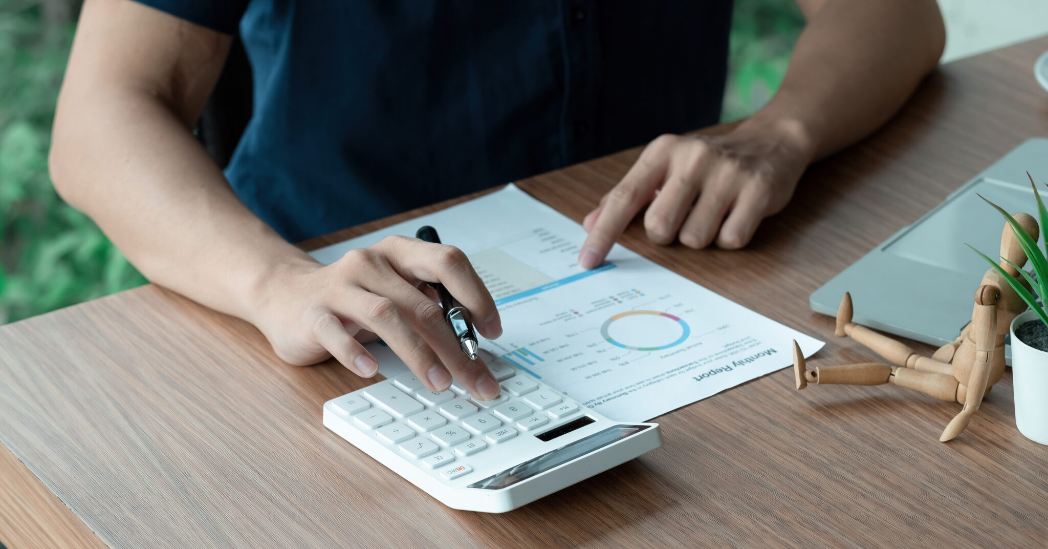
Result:
M454 376L496 398L487 366L459 350L421 290L443 283L498 337L495 301L461 251L391 237L325 267L234 194L192 133L231 40L137 2L87 0L56 117L56 189L151 281L253 322L292 364L333 356L373 376L354 339L373 332L428 388Z

